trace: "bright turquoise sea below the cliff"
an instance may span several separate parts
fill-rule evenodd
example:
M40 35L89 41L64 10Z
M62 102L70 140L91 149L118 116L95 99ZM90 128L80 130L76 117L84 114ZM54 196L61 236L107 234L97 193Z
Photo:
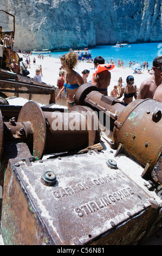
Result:
M113 59L116 62L115 65L118 65L119 58L124 61L124 66L126 67L129 66L129 61L131 60L131 62L138 62L140 65L146 61L150 64L149 68L151 68L153 59L162 55L162 42L129 45L131 45L130 48L114 48L111 45L102 45L90 48L89 50L92 51L92 59L100 55L105 58L106 62ZM59 54L63 55L67 52L52 52L51 57L59 58Z

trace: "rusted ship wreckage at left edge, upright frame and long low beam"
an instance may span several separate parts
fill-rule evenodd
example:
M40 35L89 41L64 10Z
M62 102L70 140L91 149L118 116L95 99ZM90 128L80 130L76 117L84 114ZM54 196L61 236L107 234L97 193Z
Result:
M6 23L9 22L11 16L13 23L12 31L2 31L0 26L0 89L2 97L20 96L34 100L42 104L55 103L55 88L42 82L36 82L30 76L24 77L10 72L10 64L8 59L7 47L1 40L5 34L8 34L14 40L15 37L15 16L5 10L0 10L0 15L5 13L4 17ZM11 63L15 59L17 64L20 64L20 57L17 52L13 50L14 42L12 42L12 50L10 52Z

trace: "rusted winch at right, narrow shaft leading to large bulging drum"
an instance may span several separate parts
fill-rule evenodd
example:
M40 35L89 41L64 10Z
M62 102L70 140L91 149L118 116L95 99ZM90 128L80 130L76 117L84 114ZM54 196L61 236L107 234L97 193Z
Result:
M85 92L88 92L86 96ZM162 104L146 99L135 100L124 107L118 100L102 95L95 86L86 83L75 95L76 105L80 102L109 115L113 141L118 147L115 156L125 151L145 167L143 178L152 173L152 178L162 184Z

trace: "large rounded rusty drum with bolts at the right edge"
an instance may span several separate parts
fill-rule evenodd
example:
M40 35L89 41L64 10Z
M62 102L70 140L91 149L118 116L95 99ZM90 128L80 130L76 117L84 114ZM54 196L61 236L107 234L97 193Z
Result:
M135 100L120 113L114 126L114 141L142 166L152 170L161 155L162 103ZM118 154L118 151L116 155Z

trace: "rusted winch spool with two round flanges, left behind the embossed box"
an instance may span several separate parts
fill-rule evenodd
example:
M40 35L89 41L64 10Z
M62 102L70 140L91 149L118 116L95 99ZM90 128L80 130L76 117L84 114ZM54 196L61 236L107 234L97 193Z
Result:
M17 122L2 120L1 157L7 141L27 143L31 154L41 159L43 154L83 149L100 142L99 120L88 107L75 106L68 112L43 112L34 101L27 102Z

